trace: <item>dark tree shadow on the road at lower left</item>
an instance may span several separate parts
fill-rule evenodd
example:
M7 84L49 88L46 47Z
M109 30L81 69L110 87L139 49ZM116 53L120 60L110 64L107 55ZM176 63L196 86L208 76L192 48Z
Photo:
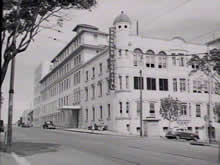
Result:
M53 143L15 142L12 144L11 152L20 156L31 156L46 152L56 152L58 151L59 146L60 145ZM0 149L0 151L5 152L5 147Z

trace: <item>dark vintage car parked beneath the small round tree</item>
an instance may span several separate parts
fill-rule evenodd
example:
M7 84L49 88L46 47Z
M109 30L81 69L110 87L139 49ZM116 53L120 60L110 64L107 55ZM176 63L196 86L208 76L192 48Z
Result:
M185 139L185 140L199 140L199 136L197 134L191 132L181 132L181 131L168 131L165 135L168 139Z

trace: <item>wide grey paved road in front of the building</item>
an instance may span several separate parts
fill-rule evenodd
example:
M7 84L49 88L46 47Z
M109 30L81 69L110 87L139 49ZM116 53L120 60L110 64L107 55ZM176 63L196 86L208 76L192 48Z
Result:
M219 164L217 148L157 138L14 128L13 141L14 157L23 165Z

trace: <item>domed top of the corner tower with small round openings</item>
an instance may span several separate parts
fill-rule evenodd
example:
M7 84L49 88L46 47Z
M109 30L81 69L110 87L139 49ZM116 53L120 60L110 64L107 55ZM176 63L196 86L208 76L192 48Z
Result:
M128 46L128 38L131 29L130 18L122 11L113 22L116 29L116 47L126 49Z

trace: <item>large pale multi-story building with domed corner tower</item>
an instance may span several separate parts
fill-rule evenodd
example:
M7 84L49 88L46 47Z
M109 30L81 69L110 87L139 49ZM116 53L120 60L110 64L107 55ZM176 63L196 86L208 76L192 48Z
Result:
M109 130L139 134L142 89L145 135L165 134L169 122L160 115L160 99L172 96L184 106L171 127L205 137L208 79L202 72L190 74L197 66L187 61L188 55L205 53L207 47L180 37L131 35L131 26L122 12L110 33L84 24L73 29L76 36L51 61L53 69L40 81L41 120L85 129L104 124ZM213 85L211 94L213 103L220 100ZM210 116L214 123L212 111Z

